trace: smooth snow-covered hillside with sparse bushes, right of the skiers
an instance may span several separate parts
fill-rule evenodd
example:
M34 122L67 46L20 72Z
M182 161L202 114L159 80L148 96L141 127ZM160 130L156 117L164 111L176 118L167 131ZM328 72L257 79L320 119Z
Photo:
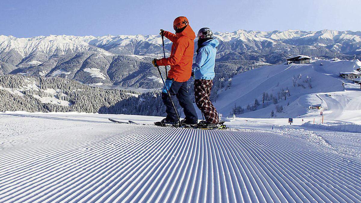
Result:
M232 115L236 107L243 111L240 117L269 118L274 111L274 117L294 118L319 115L321 110L309 107L321 104L327 121L359 123L360 86L339 73L356 72L360 65L358 60L318 60L264 66L233 77L230 88L219 92L215 105L223 115Z

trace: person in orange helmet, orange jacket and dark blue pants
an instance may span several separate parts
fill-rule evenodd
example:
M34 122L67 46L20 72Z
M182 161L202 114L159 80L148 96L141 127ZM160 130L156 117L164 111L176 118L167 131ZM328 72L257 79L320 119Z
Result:
M177 124L177 114L174 111L171 100L167 94L168 88L171 99L178 99L179 104L183 108L185 119L182 124L196 125L198 122L197 113L191 102L187 90L187 81L191 77L192 63L194 54L195 33L189 25L188 19L184 16L175 18L173 22L175 34L169 31L161 30L160 35L168 38L172 44L170 57L152 61L155 67L170 65L168 77L162 90L162 100L166 105L167 117L156 125L175 125Z

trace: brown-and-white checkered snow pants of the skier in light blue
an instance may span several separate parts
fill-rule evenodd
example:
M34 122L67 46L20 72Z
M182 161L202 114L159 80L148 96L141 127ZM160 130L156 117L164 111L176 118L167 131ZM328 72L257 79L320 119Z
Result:
M213 80L194 80L194 97L196 99L197 107L202 111L206 122L218 124L219 118L217 110L209 100L212 86Z

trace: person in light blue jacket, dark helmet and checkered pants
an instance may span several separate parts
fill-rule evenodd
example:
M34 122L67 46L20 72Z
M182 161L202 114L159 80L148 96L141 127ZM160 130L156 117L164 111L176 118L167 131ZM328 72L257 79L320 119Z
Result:
M204 27L198 31L198 48L195 63L192 65L194 75L194 97L197 107L205 117L199 125L212 126L219 123L216 108L210 102L210 92L213 86L214 65L219 42L213 38L212 30Z

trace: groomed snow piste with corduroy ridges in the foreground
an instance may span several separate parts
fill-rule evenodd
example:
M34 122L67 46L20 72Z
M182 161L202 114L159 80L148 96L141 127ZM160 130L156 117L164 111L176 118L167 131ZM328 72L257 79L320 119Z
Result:
M114 124L106 115L10 113L0 114L0 124L0 202L361 200L359 157L292 129L176 129Z

